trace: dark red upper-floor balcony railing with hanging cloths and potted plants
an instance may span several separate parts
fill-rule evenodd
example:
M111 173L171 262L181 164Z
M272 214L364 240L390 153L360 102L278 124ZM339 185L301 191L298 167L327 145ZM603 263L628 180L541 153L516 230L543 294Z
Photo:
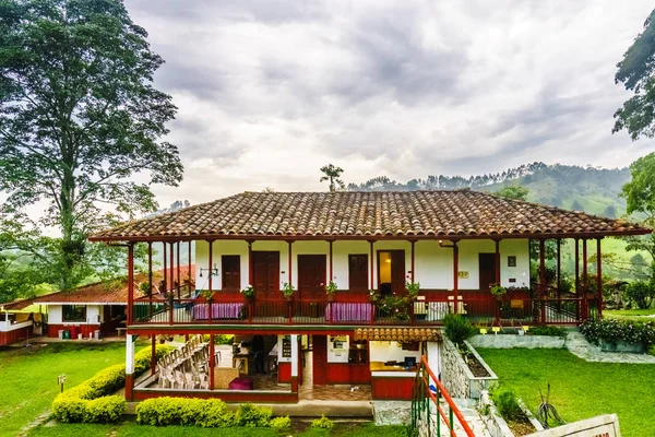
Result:
M432 295L433 294L433 295ZM478 296L475 296L475 295ZM473 295L473 296L472 296ZM436 326L445 315L456 312L475 326L575 324L585 307L595 312L595 299L579 297L534 298L512 296L493 299L491 295L468 292L430 293L418 300L334 302L323 299L253 299L177 297L142 298L133 303L130 324L147 326Z

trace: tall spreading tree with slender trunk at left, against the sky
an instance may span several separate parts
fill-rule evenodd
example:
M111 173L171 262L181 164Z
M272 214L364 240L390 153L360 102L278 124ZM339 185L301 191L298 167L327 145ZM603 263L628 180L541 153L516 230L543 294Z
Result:
M181 180L177 147L160 141L177 108L152 85L164 61L146 37L119 0L0 2L2 213L48 202L38 224L61 233L62 288L102 250L90 233L154 211L151 185Z

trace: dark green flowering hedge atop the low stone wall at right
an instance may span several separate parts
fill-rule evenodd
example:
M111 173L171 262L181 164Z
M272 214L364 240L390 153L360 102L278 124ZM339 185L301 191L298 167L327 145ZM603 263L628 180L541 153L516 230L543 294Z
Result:
M592 343L598 344L602 340L616 343L621 340L626 343L642 343L644 349L655 344L655 322L632 322L618 319L586 320L580 326L580 332Z

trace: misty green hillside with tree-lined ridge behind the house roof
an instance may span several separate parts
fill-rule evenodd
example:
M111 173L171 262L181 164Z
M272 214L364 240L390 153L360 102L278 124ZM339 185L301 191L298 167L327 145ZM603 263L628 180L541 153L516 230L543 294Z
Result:
M379 176L364 184L349 184L352 191L456 190L471 188L498 191L508 185L522 185L529 190L527 200L568 210L585 211L609 217L626 212L626 201L619 198L621 187L630 180L628 168L594 168L572 165L525 164L502 173L469 177L431 175L405 184Z

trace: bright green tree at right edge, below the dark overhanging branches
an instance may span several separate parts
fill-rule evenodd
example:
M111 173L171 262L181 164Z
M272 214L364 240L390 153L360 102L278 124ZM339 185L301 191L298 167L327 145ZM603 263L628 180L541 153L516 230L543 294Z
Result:
M643 223L655 226L655 152L642 156L630 164L632 179L623 186L619 196L626 198L627 213L645 215ZM643 237L627 238L627 250L646 250L655 260L655 240L653 234ZM651 277L655 280L655 268L651 268Z

